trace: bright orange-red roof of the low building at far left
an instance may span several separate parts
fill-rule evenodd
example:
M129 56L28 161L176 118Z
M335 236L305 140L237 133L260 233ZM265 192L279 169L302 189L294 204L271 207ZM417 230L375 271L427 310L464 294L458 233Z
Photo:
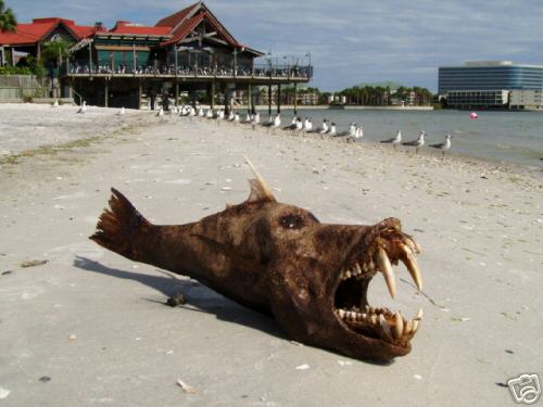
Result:
M65 27L76 40L89 37L97 31L96 27L76 25L73 20L60 17L34 18L29 24L17 24L14 33L0 33L0 43L12 46L36 43L46 39L60 25Z

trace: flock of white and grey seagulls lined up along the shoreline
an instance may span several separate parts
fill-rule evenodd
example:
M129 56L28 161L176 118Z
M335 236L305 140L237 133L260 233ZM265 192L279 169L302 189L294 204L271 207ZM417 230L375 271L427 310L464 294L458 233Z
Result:
M80 109L77 113L86 113L87 104L84 101ZM125 107L122 107L121 111L117 112L117 115L125 114ZM178 115L181 117L202 117L207 119L214 119L217 123L217 126L220 125L220 122L230 122L232 124L244 124L251 125L253 129L257 126L262 126L268 129L268 132L274 135L276 130L282 129L283 131L289 131L291 135L305 136L305 135L320 135L320 136L329 136L334 138L343 138L348 142L359 142L364 137L364 127L356 123L351 123L349 125L349 129L345 131L338 131L336 127L336 123L330 122L328 119L324 119L323 124L319 127L314 127L311 117L305 117L302 119L300 116L292 117L292 120L289 125L281 127L281 115L278 113L277 115L269 116L267 122L261 122L261 114L256 112L255 114L248 113L243 119L241 119L240 114L235 111L230 111L228 115L226 115L223 109L213 110L207 109L206 111L203 107L194 107L192 105L181 105L174 106L173 109L164 112L163 107L160 107L156 116L162 119L165 118L165 115ZM399 144L414 147L415 153L418 154L420 148L425 145L425 137L428 136L425 131L420 131L418 137L415 140L404 141L402 139L402 131L397 130L396 136L381 140L381 143L389 143L396 149ZM429 144L429 147L433 149L441 150L443 157L445 156L445 152L451 149L451 135L445 136L445 140L441 143Z

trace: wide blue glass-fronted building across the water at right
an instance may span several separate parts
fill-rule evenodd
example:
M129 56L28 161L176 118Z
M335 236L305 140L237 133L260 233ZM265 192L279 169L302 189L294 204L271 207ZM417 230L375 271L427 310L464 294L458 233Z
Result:
M498 107L507 92L543 89L543 66L509 61L468 62L439 68L439 94L454 106Z

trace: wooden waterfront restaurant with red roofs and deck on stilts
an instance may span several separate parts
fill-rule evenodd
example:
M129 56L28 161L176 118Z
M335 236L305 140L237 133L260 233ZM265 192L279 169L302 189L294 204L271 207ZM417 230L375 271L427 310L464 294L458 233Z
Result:
M60 66L62 88L88 104L138 107L147 97L177 102L180 91L206 91L214 105L217 93L231 94L252 87L307 82L310 66L262 65L265 53L238 41L203 1L160 20L154 26L117 21L79 26L65 18L35 18L15 33L0 34L1 62L13 64L15 52L39 56L50 41L73 42L71 58ZM63 92L65 93L65 92ZM272 91L269 89L269 94ZM251 99L251 98L250 98Z

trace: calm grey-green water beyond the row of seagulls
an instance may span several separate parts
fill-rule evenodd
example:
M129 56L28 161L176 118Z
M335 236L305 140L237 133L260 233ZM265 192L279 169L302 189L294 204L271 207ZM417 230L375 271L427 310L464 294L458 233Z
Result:
M267 113L267 111L263 112ZM364 126L364 141L378 142L402 130L403 140L413 140L420 130L428 136L426 145L453 136L452 154L493 162L543 167L543 112L477 112L472 120L466 111L390 111L390 110L299 110L312 117L313 127L323 119L334 122L338 131L352 122ZM281 112L283 125L290 124L293 111ZM263 115L266 118L267 114ZM426 147L425 147L426 149ZM432 149L433 150L433 149Z

